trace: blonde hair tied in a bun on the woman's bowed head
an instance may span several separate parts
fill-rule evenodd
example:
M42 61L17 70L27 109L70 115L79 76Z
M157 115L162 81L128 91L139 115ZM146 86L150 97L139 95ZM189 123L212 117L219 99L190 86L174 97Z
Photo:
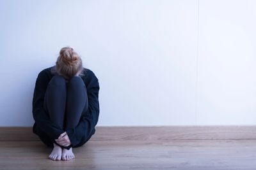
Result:
M80 72L79 76L84 75L83 62L81 57L70 46L61 48L58 56L56 66L52 68L52 73L57 73L64 76L66 79L75 76Z

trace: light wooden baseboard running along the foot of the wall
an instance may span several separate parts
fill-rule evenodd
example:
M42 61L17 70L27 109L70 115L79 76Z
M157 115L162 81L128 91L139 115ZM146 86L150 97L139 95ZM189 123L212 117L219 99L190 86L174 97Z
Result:
M256 126L97 126L90 140L256 139ZM0 141L38 141L32 127L0 127Z

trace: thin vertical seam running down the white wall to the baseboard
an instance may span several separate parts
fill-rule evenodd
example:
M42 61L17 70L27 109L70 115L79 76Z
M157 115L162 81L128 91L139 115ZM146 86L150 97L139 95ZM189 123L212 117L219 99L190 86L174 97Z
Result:
M195 84L195 125L197 125L197 99L198 99L198 56L199 56L199 0L197 4L197 44L196 44L196 84Z

